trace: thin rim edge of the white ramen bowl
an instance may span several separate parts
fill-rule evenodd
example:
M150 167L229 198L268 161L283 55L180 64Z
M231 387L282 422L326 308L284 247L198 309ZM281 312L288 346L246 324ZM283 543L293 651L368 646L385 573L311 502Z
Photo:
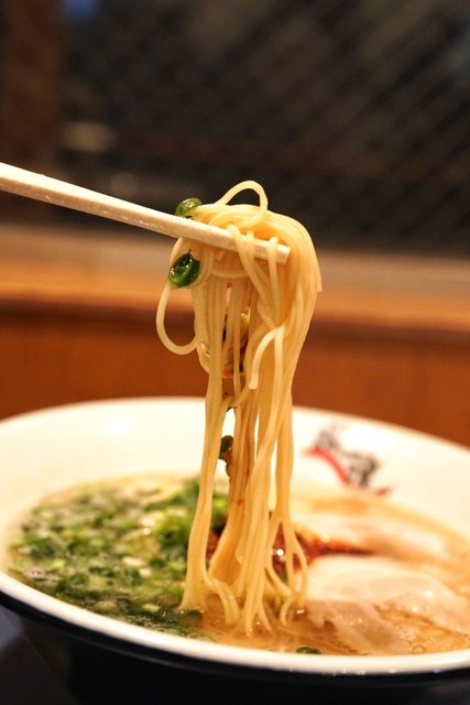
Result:
M54 420L56 414L62 416L63 414L83 413L90 409L100 409L105 413L107 411L112 413L118 406L120 410L125 409L132 413L136 408L140 410L153 409L155 405L165 403L187 406L188 404L201 404L204 400L185 397L149 397L77 402L51 406L0 421L0 442L3 429L11 429L18 424L28 426L31 422L47 422ZM326 414L349 422L359 421L374 426L380 425L385 430L391 429L398 433L403 432L408 436L411 434L412 437L416 435L424 442L428 438L467 454L470 462L470 451L464 446L459 446L428 434L353 414L342 414L306 406L296 406L296 410L306 413ZM466 675L466 672L470 670L470 649L385 657L310 655L270 652L193 640L138 627L69 605L20 583L2 570L0 570L0 605L33 620L41 620L43 623L48 623L62 631L67 631L72 628L75 636L81 639L106 643L108 647L118 650L124 649L128 652L138 649L140 653L145 654L145 658L155 659L162 663L184 663L185 668L190 664L190 668L197 670L217 669L219 672L220 669L225 669L230 672L237 670L248 671L253 674L266 672L271 675L278 674L286 677L308 676L314 679L330 676L379 679L390 676L422 679L424 676L434 679L436 675L446 673Z

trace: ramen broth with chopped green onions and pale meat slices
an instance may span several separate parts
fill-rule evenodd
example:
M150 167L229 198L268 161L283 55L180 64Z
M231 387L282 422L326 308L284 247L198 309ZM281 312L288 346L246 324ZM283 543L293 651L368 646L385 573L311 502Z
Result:
M13 529L8 571L48 595L151 629L311 654L424 653L470 648L470 546L384 498L341 491L293 501L307 556L305 609L245 633L216 597L182 610L197 480L141 476L44 499ZM207 561L223 531L216 491ZM273 546L283 575L283 536Z

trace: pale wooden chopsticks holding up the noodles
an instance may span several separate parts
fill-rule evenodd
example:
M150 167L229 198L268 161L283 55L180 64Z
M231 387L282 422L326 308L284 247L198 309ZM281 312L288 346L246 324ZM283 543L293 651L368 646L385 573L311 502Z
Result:
M188 238L214 247L236 251L230 232L223 228L198 223L190 218L161 213L113 196L75 186L18 166L0 162L0 189L26 198L80 210L120 223L161 232L173 238ZM255 240L255 256L267 259L267 241ZM285 245L276 246L276 260L284 264L289 254Z

